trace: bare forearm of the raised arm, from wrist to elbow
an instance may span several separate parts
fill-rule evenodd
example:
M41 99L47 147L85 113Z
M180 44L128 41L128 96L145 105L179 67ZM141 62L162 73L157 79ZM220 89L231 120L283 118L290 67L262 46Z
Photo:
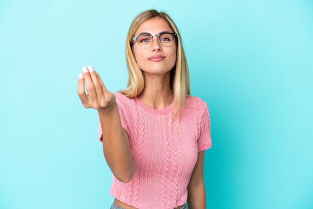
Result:
M99 109L98 113L105 160L119 181L128 182L133 175L133 162L128 137L125 137L121 126L117 103L109 109Z

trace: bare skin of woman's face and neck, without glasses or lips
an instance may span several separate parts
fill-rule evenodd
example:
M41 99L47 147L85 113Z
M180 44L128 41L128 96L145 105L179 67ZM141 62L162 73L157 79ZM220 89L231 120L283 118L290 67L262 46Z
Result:
M141 32L158 34L162 31L174 32L169 24L160 17L154 17L141 23L133 36ZM162 46L156 36L148 48L139 48L134 43L132 48L136 62L144 74L144 89L137 96L143 103L154 108L163 109L172 102L172 93L169 86L170 69L176 62L176 44ZM151 61L153 55L163 55L162 61Z

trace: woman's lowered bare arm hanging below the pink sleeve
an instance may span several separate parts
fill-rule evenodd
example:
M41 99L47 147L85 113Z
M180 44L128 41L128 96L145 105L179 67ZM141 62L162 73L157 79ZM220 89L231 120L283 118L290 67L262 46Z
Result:
M187 204L190 209L206 208L205 188L203 179L204 151L198 152L198 158L194 165L189 184Z

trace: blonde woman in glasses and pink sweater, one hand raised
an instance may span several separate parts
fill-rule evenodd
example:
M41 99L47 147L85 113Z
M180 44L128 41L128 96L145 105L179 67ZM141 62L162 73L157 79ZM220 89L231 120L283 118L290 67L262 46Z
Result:
M134 18L126 62L123 90L108 91L92 66L82 67L78 79L84 107L98 110L99 140L112 171L111 208L205 208L208 107L190 95L179 31L166 13L151 9Z

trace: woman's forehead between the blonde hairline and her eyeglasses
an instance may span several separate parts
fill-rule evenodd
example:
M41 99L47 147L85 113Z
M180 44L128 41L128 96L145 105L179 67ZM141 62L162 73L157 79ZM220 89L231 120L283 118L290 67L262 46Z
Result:
M165 19L161 17L153 17L142 22L134 33L134 36L138 35L141 32L158 34L162 31L174 32Z

